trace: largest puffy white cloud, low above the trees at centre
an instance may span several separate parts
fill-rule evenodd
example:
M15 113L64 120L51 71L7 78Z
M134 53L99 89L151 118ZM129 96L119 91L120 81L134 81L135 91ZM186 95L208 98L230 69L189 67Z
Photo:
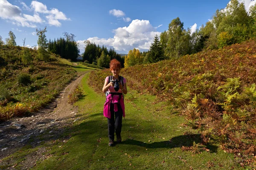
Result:
M132 50L134 48L140 51L148 50L151 43L154 40L155 35L160 35L148 20L133 20L128 27L119 27L113 30L113 38L99 38L90 37L87 40L104 45L108 48L113 47L116 51L126 51ZM80 51L84 51L84 41L78 41L80 45Z

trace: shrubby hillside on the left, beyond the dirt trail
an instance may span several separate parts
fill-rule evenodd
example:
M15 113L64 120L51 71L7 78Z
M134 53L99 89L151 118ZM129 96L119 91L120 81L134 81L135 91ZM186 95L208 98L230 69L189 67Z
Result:
M75 76L70 65L51 54L49 62L37 59L37 51L25 48L30 64L22 60L23 47L0 48L0 121L37 111L51 102Z

